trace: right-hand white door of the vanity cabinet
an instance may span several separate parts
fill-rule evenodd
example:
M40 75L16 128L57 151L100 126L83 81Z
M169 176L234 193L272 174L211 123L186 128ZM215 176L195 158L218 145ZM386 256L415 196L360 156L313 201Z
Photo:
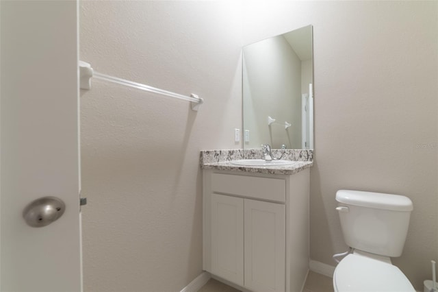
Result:
M285 205L244 200L245 284L252 291L285 291Z

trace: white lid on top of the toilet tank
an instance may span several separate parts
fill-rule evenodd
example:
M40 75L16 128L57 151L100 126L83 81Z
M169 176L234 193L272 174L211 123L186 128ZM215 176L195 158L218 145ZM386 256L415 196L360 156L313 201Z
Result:
M409 197L385 193L372 193L364 191L339 190L336 192L336 201L353 206L367 208L412 211L413 205Z

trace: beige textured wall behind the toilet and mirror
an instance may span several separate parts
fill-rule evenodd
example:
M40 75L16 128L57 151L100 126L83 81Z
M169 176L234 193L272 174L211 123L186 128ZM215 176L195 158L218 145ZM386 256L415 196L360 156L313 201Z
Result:
M344 252L335 193L398 193L414 204L393 262L417 290L437 254L438 3L324 1L248 5L244 43L313 25L315 166L311 258Z

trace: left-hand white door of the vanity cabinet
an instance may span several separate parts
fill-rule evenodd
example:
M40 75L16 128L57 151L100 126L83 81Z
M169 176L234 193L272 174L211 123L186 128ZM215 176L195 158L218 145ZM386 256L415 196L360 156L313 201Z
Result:
M211 272L244 284L244 199L211 195Z

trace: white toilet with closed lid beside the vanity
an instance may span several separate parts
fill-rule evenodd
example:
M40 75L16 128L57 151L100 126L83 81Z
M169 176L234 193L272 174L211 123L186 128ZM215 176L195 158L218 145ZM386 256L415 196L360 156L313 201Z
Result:
M415 291L389 258L402 254L413 210L411 200L346 190L337 191L336 200L344 241L353 252L335 269L335 291Z

